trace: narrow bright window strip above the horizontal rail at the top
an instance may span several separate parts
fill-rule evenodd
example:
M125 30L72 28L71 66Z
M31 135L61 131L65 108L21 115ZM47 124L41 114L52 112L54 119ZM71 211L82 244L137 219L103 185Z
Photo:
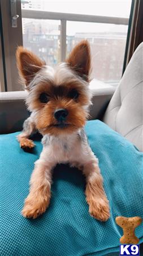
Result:
M25 1L26 2L26 1ZM28 0L22 9L53 11L55 13L88 14L128 18L131 0L94 0L94 1L38 1Z

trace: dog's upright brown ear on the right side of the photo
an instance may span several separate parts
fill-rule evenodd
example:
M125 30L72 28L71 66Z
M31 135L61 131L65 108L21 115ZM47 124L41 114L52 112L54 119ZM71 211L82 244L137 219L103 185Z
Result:
M70 64L70 67L73 68L79 76L88 81L91 67L90 46L88 40L83 40L77 44L72 49L66 62Z

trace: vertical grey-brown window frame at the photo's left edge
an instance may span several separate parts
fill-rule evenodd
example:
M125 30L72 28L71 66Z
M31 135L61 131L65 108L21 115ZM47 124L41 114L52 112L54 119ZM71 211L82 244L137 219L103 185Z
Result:
M1 35L2 35L2 55L3 55L3 73L5 74L5 91L20 90L18 84L18 69L16 67L15 52L18 46L23 45L23 34L21 24L21 1L16 1L16 13L19 15L18 26L12 27L11 19L11 1L0 0L1 5Z

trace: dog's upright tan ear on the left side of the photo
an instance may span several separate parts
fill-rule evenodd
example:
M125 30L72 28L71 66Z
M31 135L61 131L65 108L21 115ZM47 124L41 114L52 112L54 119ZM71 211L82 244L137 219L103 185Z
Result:
M19 75L28 85L38 71L45 65L45 62L40 60L31 51L19 46L16 51L16 61L19 70Z

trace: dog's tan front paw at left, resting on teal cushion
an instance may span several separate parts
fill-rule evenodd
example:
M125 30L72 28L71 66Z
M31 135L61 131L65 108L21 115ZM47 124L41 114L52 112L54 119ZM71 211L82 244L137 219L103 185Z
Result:
M49 198L45 200L41 198L41 195L34 198L33 196L31 197L31 195L29 195L25 200L24 208L21 213L25 218L37 218L45 212L49 202Z

